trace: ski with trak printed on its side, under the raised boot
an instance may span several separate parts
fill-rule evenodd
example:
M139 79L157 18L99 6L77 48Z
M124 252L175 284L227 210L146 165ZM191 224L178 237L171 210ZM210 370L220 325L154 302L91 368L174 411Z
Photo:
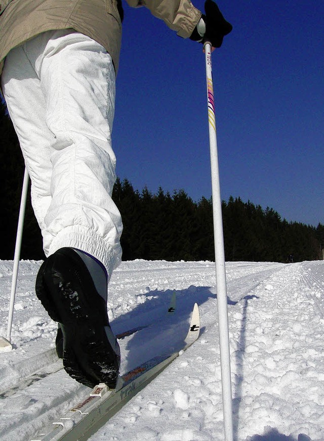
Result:
M109 390L99 384L83 401L79 402L59 421L39 431L30 441L84 441L94 434L133 396L160 374L173 360L199 337L200 319L194 305L188 334L180 351L159 355L135 367L120 377L117 388Z

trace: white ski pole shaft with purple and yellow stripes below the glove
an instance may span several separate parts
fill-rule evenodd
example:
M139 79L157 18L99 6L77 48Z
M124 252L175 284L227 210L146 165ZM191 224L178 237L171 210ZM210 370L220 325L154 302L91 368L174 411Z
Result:
M213 89L212 55L211 44L206 42L206 77L207 77L207 100L208 100L208 121L209 140L212 172L212 199L213 199L213 220L214 220L214 242L215 242L215 263L217 282L217 305L218 305L218 326L220 340L220 359L222 375L223 412L225 441L233 441L233 410L231 392L231 368L228 334L228 312L227 312L227 290L225 274L225 252L222 219L222 202L220 192L217 138L216 138L216 115Z

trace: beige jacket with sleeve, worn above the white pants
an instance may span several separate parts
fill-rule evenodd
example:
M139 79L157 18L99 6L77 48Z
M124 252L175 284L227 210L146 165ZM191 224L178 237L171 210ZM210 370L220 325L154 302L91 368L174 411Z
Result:
M145 6L178 35L191 35L201 13L190 0L127 0ZM118 70L121 22L116 0L0 0L0 74L11 49L51 29L73 28L100 43Z

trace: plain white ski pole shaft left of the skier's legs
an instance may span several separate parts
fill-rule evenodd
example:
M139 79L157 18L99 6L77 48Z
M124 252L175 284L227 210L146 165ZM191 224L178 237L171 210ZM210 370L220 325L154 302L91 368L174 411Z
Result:
M17 277L18 277L18 268L19 268L19 259L20 259L20 250L21 250L22 231L24 227L25 209L26 209L26 201L27 201L28 181L29 181L29 176L27 169L25 168L24 180L23 180L22 192L21 192L21 200L20 200L19 217L18 217L17 237L16 237L16 246L15 246L15 255L14 255L14 268L12 272L12 281L11 281L10 305L9 305L8 327L7 327L7 339L9 341L11 341L11 328L12 328L12 319L14 315L14 305L16 298Z

